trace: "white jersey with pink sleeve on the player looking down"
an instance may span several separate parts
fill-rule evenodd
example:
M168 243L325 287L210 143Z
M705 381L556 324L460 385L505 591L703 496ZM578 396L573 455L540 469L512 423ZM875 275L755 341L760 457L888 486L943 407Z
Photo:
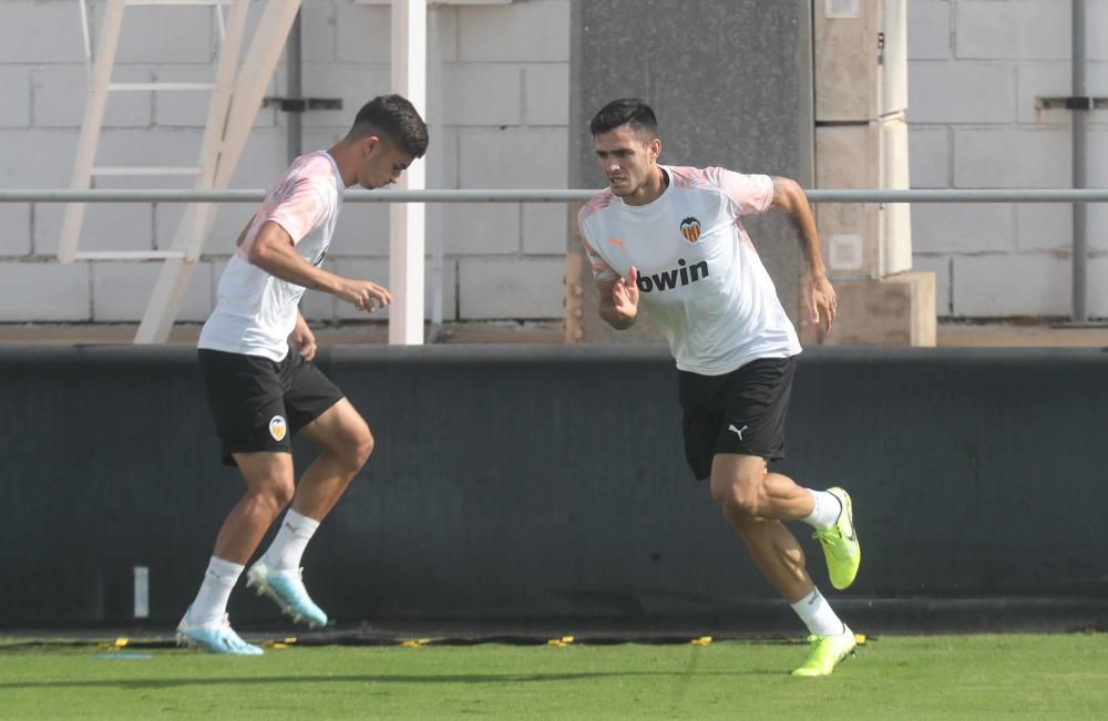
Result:
M215 310L201 330L198 348L281 361L296 327L305 288L276 278L247 260L258 230L277 223L314 266L324 261L342 206L342 176L324 151L293 161L254 215L242 245L219 278Z

